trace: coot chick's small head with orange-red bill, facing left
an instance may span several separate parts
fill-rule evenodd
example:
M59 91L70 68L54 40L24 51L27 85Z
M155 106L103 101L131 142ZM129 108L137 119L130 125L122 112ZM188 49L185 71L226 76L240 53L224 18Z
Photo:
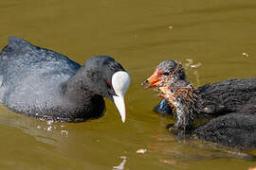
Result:
M163 87L168 86L169 83L174 83L176 80L185 79L185 71L181 63L172 59L162 61L155 69L152 76L142 83L148 84L144 89L151 87Z

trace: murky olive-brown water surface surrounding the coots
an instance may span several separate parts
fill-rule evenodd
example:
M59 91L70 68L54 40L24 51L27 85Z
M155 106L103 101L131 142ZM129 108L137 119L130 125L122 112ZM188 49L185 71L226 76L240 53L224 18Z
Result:
M187 59L197 86L256 76L254 0L128 1L11 0L0 3L0 47L25 38L83 63L114 57L132 77L127 122L106 101L106 115L84 123L54 123L0 106L0 169L247 169L256 161L178 142L152 108L159 101L140 83L164 59ZM243 55L243 53L245 53ZM204 145L204 144L203 144ZM138 154L137 149L147 149ZM252 151L252 153L256 153Z

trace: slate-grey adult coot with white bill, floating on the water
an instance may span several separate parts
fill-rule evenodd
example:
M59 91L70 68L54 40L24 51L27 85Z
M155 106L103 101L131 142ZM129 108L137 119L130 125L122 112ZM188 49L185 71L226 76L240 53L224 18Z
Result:
M0 53L0 102L10 110L40 118L80 122L105 111L113 101L125 121L124 94L130 76L108 56L83 66L64 55L9 37Z

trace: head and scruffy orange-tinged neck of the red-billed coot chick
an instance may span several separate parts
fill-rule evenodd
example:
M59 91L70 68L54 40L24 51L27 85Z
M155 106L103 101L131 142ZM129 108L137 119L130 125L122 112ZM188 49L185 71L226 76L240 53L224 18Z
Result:
M174 127L185 131L192 128L193 119L197 116L198 91L186 80L182 65L174 60L162 61L144 83L144 89L156 87L159 96L165 98L177 120Z

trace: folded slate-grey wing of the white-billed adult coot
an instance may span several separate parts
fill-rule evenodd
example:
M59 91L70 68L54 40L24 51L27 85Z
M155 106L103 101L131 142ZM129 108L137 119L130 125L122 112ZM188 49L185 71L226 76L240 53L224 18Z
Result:
M10 37L0 53L0 101L7 106L21 100L47 102L80 67L60 53Z

